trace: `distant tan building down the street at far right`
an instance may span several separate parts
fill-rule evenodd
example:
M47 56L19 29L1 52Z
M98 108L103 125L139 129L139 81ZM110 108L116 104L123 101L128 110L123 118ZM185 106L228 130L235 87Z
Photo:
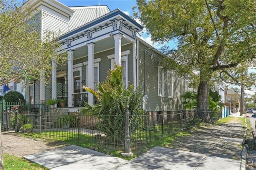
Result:
M238 93L226 89L225 105L230 107L232 113L240 112L240 102Z

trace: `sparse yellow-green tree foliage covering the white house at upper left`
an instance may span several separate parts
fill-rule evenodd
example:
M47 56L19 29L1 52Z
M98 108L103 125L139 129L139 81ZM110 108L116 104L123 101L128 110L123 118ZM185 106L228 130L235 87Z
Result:
M24 78L39 80L40 74L49 82L52 59L59 65L68 59L66 53L57 52L59 33L41 30L41 11L19 7L12 0L0 0L0 4L0 85Z

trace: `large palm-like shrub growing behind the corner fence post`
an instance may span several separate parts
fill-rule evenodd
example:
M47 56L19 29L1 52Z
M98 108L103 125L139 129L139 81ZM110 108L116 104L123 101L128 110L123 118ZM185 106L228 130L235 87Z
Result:
M140 115L143 115L144 111L141 109L142 93L140 87L137 87L136 91L134 91L133 85L129 85L125 89L122 75L122 67L115 65L115 69L108 71L107 79L100 83L96 90L83 87L92 93L99 103L94 106L85 103L86 108L82 109L82 112L98 115L100 121L97 126L108 138L122 135L124 139L126 105L129 105L130 124L132 123L130 134L142 125Z

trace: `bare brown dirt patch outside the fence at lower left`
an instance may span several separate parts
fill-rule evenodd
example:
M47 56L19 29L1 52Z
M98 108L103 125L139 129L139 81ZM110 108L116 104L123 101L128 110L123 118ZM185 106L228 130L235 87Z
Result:
M35 154L64 147L63 142L48 142L47 140L38 138L32 139L23 137L14 132L2 132L3 153L22 157L24 155Z

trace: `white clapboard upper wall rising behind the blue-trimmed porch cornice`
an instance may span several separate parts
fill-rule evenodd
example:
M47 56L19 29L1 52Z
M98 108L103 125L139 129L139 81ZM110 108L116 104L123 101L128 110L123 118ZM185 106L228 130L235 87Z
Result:
M79 6L70 7L74 10L74 14L69 20L69 30L74 30L100 16L108 14L110 12L108 6Z

